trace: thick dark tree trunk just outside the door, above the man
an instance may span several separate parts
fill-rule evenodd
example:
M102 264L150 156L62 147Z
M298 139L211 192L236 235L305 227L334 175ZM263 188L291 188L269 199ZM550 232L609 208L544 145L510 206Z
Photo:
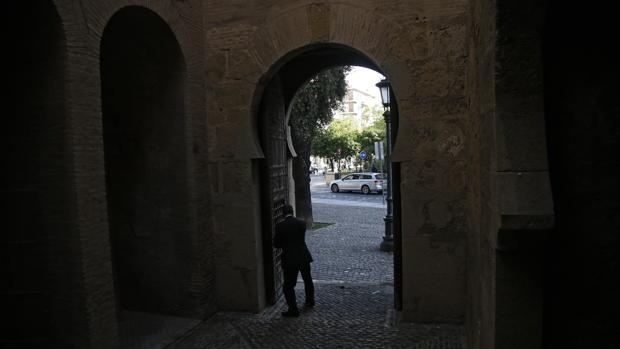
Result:
M306 147L305 144L295 144L295 150L297 157L293 158L293 179L295 180L296 215L306 221L306 227L309 229L314 223L310 195L310 147Z

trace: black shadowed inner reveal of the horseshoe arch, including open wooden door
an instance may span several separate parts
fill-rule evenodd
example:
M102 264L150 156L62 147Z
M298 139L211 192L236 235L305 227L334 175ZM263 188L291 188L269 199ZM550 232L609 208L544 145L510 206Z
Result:
M381 72L381 69L363 53L350 47L335 44L312 45L296 50L282 58L262 79L262 90L255 98L255 115L259 139L265 159L259 164L261 173L261 207L263 222L263 265L265 294L275 303L281 294L282 273L279 250L273 248L275 224L282 216L282 207L291 203L290 179L291 153L287 142L287 110L291 107L298 89L319 72L337 66L361 66ZM398 130L398 107L392 98L394 119L392 141ZM394 173L394 283L395 306L401 306L401 241L400 241L400 168L393 164ZM294 204L294 203L291 203ZM380 238L380 237L379 237ZM377 248L380 243L377 240Z

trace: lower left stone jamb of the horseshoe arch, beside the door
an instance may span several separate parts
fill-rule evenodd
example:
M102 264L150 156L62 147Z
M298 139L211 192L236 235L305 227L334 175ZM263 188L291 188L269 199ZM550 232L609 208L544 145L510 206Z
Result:
M258 161L211 163L220 309L265 307Z

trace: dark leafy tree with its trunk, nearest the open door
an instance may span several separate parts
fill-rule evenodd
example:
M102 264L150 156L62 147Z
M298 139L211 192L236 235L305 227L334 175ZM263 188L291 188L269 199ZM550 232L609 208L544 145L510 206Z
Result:
M350 67L337 67L317 74L297 91L291 106L289 124L297 152L297 157L293 158L295 206L297 216L303 217L308 227L314 222L310 197L310 150L317 134L331 122L333 110L341 107L349 70Z

